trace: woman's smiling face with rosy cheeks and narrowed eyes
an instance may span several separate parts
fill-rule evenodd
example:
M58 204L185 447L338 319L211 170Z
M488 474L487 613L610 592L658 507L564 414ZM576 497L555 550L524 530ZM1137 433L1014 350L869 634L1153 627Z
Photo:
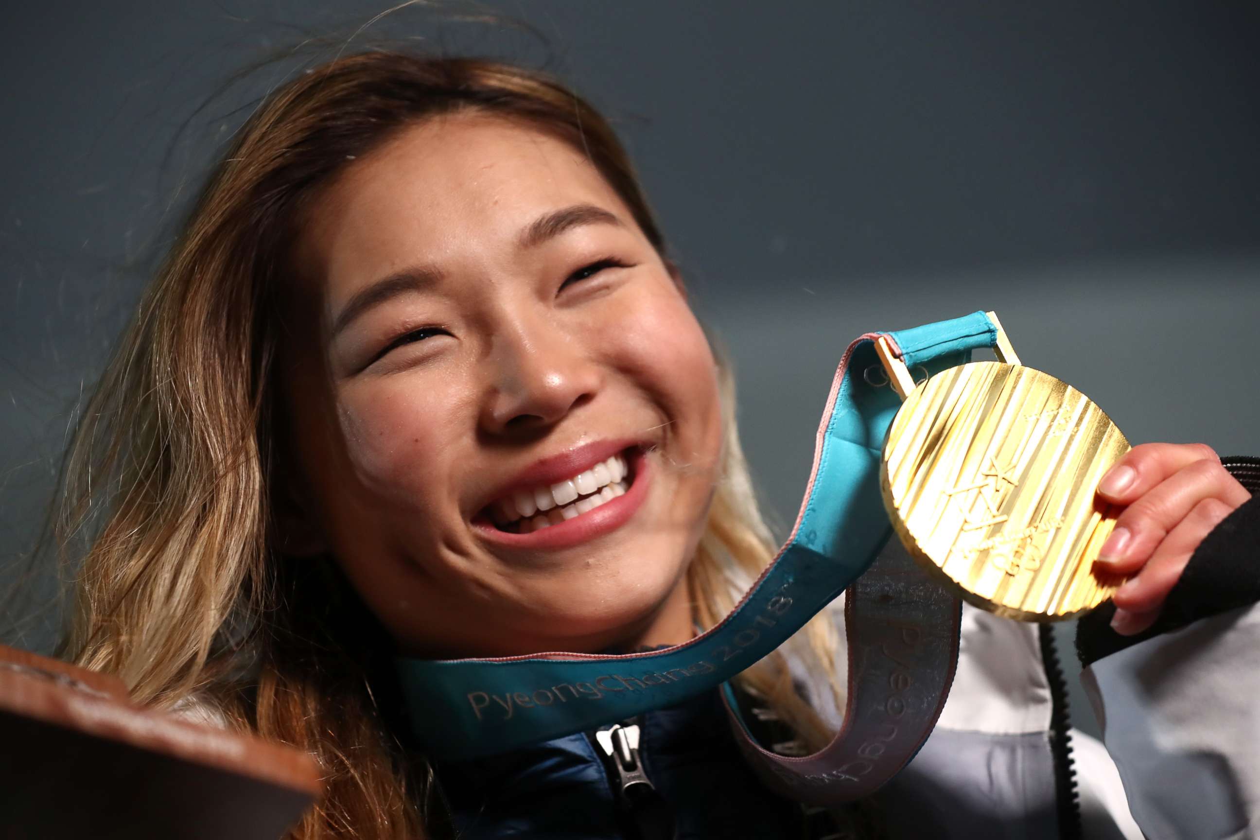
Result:
M689 633L684 572L722 446L714 361L578 151L431 120L323 190L295 262L291 530L404 651Z

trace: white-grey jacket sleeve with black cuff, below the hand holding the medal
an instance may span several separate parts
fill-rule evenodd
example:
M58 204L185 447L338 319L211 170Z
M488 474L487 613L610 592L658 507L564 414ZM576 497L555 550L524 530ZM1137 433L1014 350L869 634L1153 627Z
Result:
M1227 458L1252 494L1260 461ZM1150 840L1260 834L1260 495L1200 545L1159 623L1079 626L1081 683L1129 809Z

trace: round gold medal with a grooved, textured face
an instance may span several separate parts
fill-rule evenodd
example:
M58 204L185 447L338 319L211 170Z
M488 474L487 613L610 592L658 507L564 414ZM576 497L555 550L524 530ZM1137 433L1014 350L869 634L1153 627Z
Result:
M1057 621L1124 582L1094 560L1119 510L1099 481L1129 442L1085 394L1032 368L973 361L915 388L881 484L906 548L990 612Z

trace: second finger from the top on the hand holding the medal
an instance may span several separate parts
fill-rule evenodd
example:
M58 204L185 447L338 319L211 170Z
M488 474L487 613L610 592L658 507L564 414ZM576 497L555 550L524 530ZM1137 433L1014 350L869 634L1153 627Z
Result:
M1174 457L1179 455L1174 453ZM1174 458L1164 458L1159 463L1148 461L1145 475L1158 475L1160 465L1176 462ZM1164 538L1200 501L1216 499L1232 510L1247 497L1247 491L1220 461L1189 461L1125 508L1102 544L1099 563L1109 572L1131 574L1152 558Z

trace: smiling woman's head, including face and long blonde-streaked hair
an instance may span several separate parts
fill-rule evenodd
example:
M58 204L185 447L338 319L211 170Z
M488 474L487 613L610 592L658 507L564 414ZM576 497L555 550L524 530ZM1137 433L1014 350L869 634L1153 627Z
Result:
M774 550L732 399L598 113L517 67L343 58L241 131L84 412L66 652L315 753L297 837L466 829L398 749L392 657L716 623ZM827 686L835 644L789 647ZM740 684L822 739L781 655Z

